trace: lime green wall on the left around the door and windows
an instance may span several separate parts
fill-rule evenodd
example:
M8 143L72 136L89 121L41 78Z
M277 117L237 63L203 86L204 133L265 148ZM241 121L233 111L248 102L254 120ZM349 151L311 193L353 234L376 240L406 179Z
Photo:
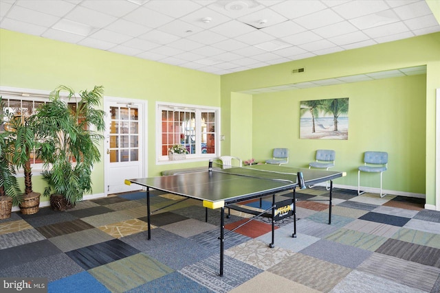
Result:
M148 101L150 176L171 168L155 165L155 103L221 105L218 75L0 30L1 86L52 91L59 84L72 86L76 91L102 85L106 96ZM93 173L94 194L104 192L103 174L104 164L99 163ZM35 191L43 191L43 181L34 177Z

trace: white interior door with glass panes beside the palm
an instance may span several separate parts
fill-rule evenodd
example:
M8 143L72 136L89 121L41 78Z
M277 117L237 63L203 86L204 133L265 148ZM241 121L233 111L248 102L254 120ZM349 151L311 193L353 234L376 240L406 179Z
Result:
M107 112L105 194L138 190L138 185L125 185L124 180L145 176L144 101L116 102L108 98L104 108Z

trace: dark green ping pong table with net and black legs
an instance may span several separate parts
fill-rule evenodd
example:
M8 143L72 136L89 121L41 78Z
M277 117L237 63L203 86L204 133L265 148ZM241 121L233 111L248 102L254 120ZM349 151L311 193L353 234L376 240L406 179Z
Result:
M345 175L345 172L333 172L320 169L305 169L278 165L252 165L250 167L232 167L229 169L212 169L212 167L207 167L206 171L203 172L126 179L125 183L127 185L134 183L146 187L148 239L151 239L150 189L165 191L169 194L183 196L184 198L201 200L203 202L203 207L208 209L221 209L219 275L223 276L225 208L239 209L236 207L236 204L239 202L272 196L272 207L270 207L270 209L258 214L255 214L252 211L249 211L249 213L254 213L254 218L259 215L265 215L272 218L272 243L270 244L270 247L274 247L274 219L276 219L276 215L280 213L279 211L282 211L284 214L287 214L285 211L289 211L288 215L293 215L294 233L292 237L296 237L296 187L299 187L300 183L309 186L330 181L328 201L329 224L331 224L333 179ZM298 180L298 176L303 176L303 178ZM303 188L305 186L301 187ZM292 200L287 206L283 203L284 207L280 207L280 204L275 201L275 196L283 191L292 191ZM248 222L254 220L254 218L251 218Z

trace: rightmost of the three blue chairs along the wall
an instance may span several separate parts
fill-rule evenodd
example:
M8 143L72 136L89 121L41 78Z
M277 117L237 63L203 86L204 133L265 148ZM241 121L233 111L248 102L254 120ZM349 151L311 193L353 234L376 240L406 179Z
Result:
M380 197L382 194L382 173L388 169L388 152L365 152L364 165L358 168L358 195L364 194L360 191L360 172L380 173Z

